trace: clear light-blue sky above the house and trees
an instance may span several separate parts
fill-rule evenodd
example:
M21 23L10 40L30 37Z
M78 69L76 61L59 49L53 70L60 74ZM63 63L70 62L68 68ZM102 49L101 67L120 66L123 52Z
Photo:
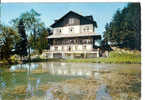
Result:
M1 3L2 24L11 25L10 21L32 8L41 14L41 21L50 27L54 20L61 18L70 10L83 16L92 15L97 22L97 34L103 34L106 23L109 23L118 9L123 9L127 3Z

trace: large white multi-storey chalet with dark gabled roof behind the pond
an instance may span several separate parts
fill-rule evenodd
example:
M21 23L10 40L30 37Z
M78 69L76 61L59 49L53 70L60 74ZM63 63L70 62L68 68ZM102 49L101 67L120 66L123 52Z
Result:
M53 34L48 36L48 57L99 57L101 35L95 32L97 23L92 16L70 11L55 20L51 28Z

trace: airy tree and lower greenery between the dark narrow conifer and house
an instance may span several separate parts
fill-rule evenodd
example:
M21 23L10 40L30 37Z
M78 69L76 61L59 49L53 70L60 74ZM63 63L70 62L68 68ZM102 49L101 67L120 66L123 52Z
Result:
M29 12L22 13L18 18L11 22L15 28L18 28L20 19L23 21L25 31L28 36L28 45L33 50L39 50L41 53L43 49L48 47L48 31L44 27L44 23L40 21L40 14L31 9Z

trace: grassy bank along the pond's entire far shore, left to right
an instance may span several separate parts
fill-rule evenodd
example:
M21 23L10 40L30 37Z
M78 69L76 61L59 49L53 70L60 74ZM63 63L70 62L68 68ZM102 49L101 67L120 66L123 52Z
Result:
M28 63L29 61L24 61ZM45 59L36 57L31 59L31 62L74 62L74 63L124 63L124 64L141 64L141 53L140 52L119 52L111 51L109 57L100 58L74 58L74 59ZM19 60L12 59L12 64L22 63ZM0 64L8 64L6 60L0 61Z

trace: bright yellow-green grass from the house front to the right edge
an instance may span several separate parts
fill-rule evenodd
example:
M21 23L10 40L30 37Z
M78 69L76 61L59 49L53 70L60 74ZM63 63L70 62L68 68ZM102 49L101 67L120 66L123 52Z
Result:
M88 59L67 59L65 62L91 62L91 63L127 63L140 64L140 53L118 53L110 52L109 57L88 58Z

